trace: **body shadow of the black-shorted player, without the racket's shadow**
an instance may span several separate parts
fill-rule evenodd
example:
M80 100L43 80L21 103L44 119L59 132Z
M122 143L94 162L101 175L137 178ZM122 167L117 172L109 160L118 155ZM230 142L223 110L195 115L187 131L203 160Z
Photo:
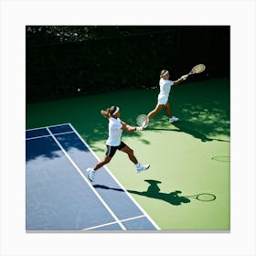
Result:
M172 204L174 206L179 206L182 203L190 202L190 199L188 199L187 197L179 196L179 194L182 193L179 190L176 190L176 191L173 191L170 193L160 192L160 188L158 187L158 184L162 183L161 181L152 180L152 179L147 179L144 181L149 183L149 187L147 188L146 191L136 191L136 190L131 190L131 189L127 189L127 191L132 194L140 195L143 197L151 197L151 198L155 198L155 199L164 200L165 202ZM102 186L102 185L94 185L93 187L102 188L102 189L112 189L115 191L124 192L124 190L122 188L112 188L112 187L107 187L107 186Z

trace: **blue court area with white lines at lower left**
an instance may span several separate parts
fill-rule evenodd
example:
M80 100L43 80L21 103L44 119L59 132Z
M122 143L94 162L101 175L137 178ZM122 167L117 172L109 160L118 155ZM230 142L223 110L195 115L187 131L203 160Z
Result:
M157 230L70 123L26 131L26 229Z

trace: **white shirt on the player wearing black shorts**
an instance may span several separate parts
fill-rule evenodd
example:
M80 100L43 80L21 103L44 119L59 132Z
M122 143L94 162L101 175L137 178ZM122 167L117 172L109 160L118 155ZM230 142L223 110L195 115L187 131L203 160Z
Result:
M121 144L122 127L123 125L120 118L109 118L109 137L106 144L111 146L118 146Z

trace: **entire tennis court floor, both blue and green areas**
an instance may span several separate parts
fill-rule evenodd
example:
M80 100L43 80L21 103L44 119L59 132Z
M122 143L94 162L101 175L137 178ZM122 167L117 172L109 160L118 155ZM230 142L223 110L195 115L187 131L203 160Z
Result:
M27 230L229 231L229 80L176 88L179 123L167 123L163 111L146 131L123 133L150 169L136 174L117 153L91 183L85 170L105 154L101 109L119 105L135 125L157 89L123 93L27 104ZM205 193L213 199L191 197Z

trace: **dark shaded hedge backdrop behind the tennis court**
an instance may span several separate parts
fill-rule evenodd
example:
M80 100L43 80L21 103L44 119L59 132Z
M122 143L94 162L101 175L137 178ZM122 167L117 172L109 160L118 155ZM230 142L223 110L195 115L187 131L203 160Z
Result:
M27 26L26 45L27 102L151 87L198 63L197 80L229 76L229 26Z

